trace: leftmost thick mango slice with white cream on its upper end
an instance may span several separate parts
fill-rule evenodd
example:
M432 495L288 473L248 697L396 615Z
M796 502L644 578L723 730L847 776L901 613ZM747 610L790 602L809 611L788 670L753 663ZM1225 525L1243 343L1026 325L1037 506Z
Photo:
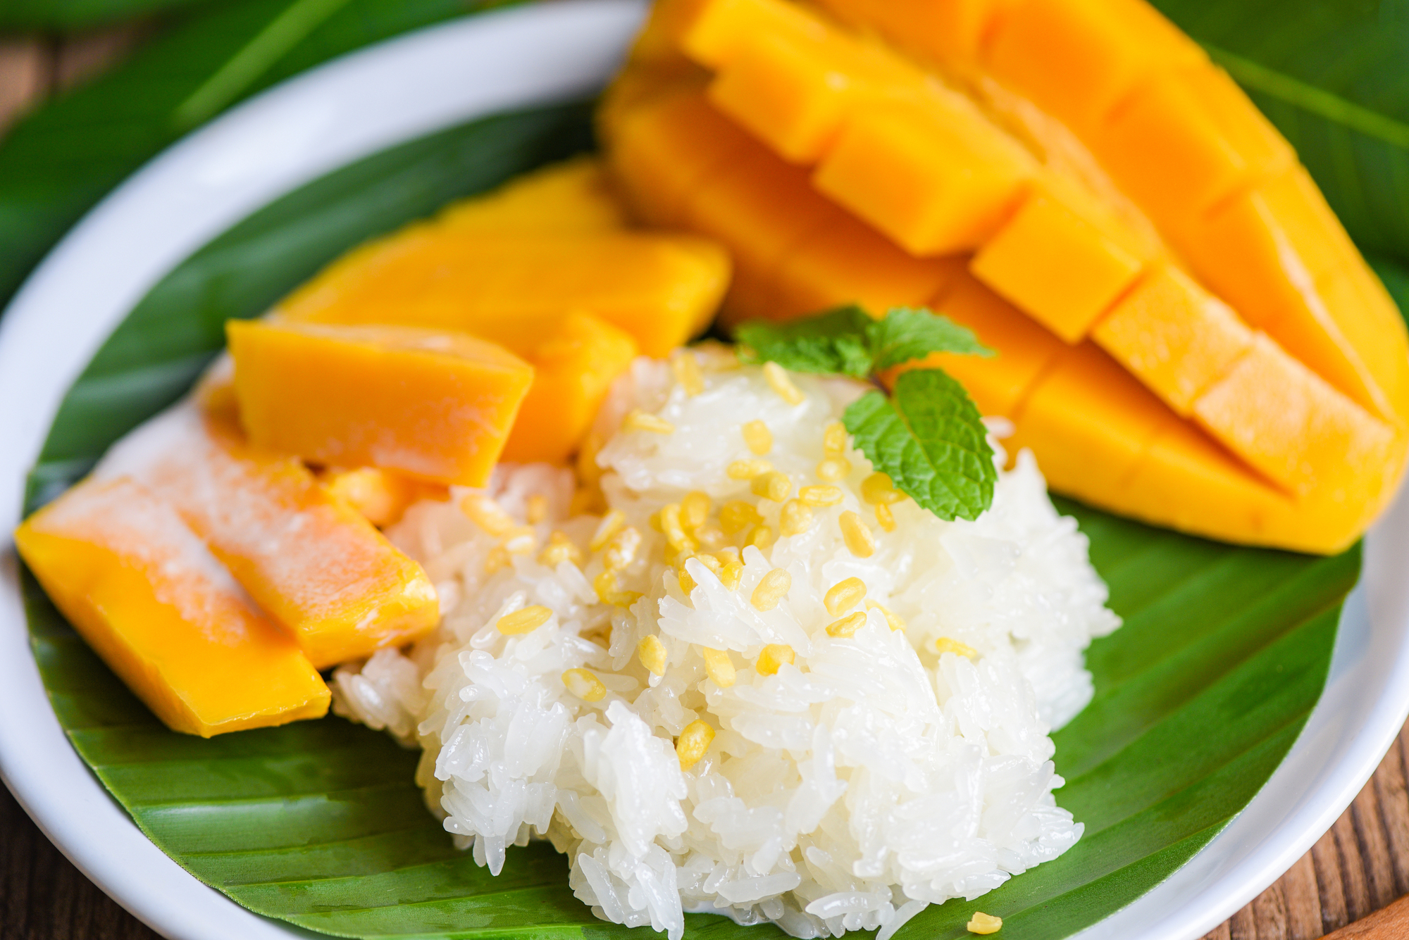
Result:
M168 728L210 737L328 711L297 644L145 487L85 481L15 533L55 605Z

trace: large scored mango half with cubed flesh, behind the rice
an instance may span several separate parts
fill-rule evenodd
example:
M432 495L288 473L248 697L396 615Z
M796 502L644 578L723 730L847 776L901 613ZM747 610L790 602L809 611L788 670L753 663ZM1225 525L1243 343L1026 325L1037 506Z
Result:
M599 113L726 322L929 305L1051 485L1310 552L1378 515L1409 338L1292 148L1141 0L662 0Z

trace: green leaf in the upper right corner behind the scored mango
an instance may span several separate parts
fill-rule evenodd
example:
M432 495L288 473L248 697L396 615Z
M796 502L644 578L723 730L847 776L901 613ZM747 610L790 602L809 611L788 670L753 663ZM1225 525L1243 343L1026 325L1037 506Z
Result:
M1409 14L1398 0L1153 0L1301 155L1350 235L1409 262Z

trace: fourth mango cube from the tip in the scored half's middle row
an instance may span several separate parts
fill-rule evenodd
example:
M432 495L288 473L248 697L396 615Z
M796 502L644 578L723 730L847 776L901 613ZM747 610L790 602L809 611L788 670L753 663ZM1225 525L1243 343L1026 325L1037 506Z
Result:
M976 113L875 107L852 114L817 166L817 189L916 256L974 250L1036 173Z

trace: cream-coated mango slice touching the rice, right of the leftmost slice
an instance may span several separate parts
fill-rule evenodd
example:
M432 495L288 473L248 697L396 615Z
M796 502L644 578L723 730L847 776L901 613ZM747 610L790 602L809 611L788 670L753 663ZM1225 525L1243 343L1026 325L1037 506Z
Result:
M440 618L435 588L294 457L251 449L180 404L114 445L99 480L161 494L317 668L410 643Z

